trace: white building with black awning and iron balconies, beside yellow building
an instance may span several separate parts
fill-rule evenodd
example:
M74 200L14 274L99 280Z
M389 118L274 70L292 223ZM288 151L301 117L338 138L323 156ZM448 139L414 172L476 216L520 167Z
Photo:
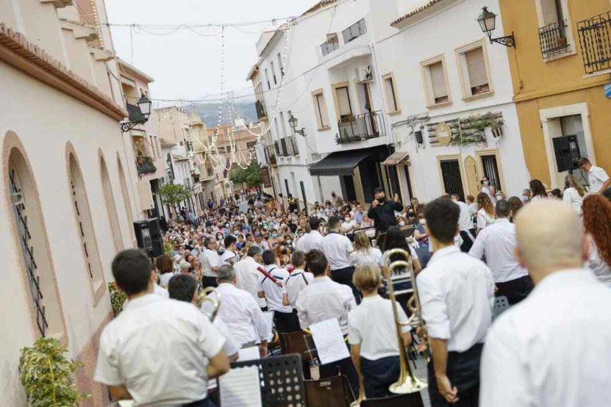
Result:
M331 0L263 33L248 77L269 120L259 155L277 162L276 192L368 203L381 186L428 201L475 195L486 175L519 195L529 176L507 51L484 41L480 10L472 0Z

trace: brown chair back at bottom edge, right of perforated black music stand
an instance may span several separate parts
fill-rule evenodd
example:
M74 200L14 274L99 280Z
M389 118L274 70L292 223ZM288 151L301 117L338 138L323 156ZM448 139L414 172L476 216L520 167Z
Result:
M304 380L308 407L349 407L354 402L346 376Z

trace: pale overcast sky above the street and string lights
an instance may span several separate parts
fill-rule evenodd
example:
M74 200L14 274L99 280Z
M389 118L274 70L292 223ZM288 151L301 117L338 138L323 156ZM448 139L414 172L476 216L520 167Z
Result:
M197 24L243 23L296 16L316 0L106 0L110 23ZM241 30L238 30L238 28ZM255 42L269 23L225 28L225 90L252 93L246 75L257 62ZM111 27L119 57L155 78L152 98L200 99L220 90L221 29L186 29L153 35L130 27ZM168 30L151 30L163 33ZM247 32L242 32L247 31ZM250 34L252 33L252 34ZM133 49L133 52L132 52ZM211 96L214 97L214 96Z

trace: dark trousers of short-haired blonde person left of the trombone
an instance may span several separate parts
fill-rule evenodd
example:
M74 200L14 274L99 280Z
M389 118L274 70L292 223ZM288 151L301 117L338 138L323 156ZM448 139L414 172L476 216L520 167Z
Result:
M388 356L375 361L360 358L360 372L365 381L367 398L382 398L395 395L389 386L399 380L401 364L399 356Z

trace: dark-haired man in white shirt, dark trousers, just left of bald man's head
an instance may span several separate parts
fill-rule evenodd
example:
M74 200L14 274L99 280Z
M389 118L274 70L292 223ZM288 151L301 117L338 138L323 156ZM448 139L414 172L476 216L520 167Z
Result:
M518 264L514 256L516 225L508 220L510 203L499 200L495 210L496 222L481 230L469 254L479 260L486 257L486 264L497 287L496 297L505 296L510 304L516 304L529 295L533 282L529 272Z

